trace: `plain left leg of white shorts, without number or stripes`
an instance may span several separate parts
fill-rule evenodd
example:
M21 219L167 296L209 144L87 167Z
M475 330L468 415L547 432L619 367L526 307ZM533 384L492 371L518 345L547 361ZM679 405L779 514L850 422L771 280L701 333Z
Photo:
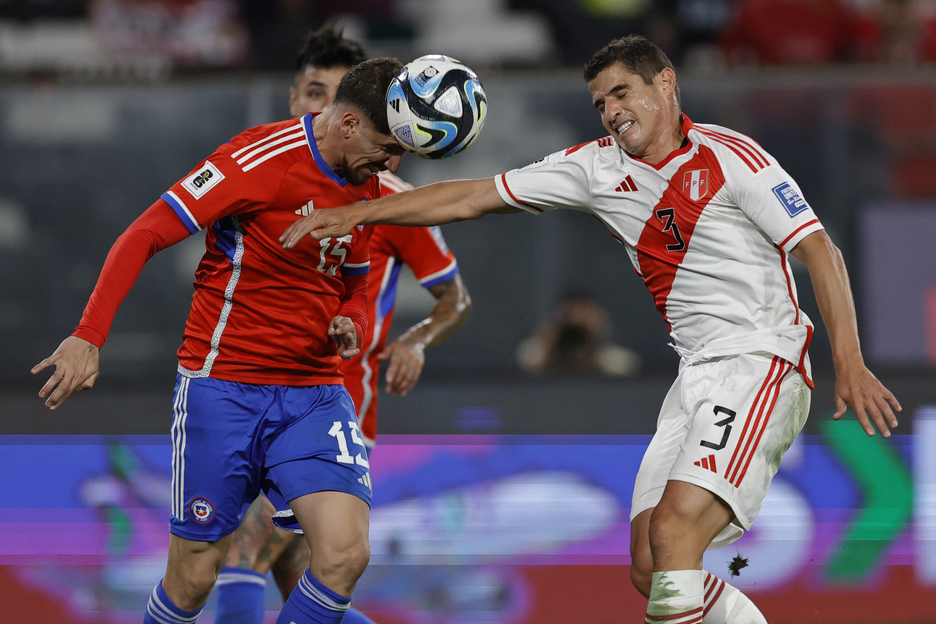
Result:
M669 480L669 472L679 456L680 445L689 431L689 417L682 408L681 379L680 374L666 394L657 419L656 432L640 461L631 501L632 521L660 502Z

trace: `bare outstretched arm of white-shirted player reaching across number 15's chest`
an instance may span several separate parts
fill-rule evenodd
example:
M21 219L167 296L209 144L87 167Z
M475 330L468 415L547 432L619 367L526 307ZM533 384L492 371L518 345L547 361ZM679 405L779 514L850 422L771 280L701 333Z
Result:
M341 237L355 225L444 225L493 212L522 212L501 198L493 178L436 182L373 201L314 210L287 227L280 242L283 249L292 249L307 234L316 240Z

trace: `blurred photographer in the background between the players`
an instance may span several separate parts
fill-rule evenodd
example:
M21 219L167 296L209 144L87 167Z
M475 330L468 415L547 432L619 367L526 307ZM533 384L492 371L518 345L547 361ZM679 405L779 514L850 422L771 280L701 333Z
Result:
M527 372L601 372L629 377L640 370L640 356L610 341L607 310L592 297L573 293L563 298L551 318L517 349L519 367Z

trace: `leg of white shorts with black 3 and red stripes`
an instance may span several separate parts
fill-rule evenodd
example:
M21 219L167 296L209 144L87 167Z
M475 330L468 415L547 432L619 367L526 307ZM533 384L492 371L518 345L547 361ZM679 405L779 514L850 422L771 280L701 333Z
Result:
M749 530L783 453L809 413L809 388L780 357L745 354L695 365L691 425L670 479L709 490L735 517L713 542ZM687 394L692 394L692 388ZM724 531L723 531L724 533Z

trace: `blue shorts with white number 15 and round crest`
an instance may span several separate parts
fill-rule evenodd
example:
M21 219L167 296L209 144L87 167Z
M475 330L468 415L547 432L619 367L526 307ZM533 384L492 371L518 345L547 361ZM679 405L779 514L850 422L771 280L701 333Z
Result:
M262 490L288 501L335 490L371 504L371 473L344 385L253 385L176 376L169 530L213 542Z

